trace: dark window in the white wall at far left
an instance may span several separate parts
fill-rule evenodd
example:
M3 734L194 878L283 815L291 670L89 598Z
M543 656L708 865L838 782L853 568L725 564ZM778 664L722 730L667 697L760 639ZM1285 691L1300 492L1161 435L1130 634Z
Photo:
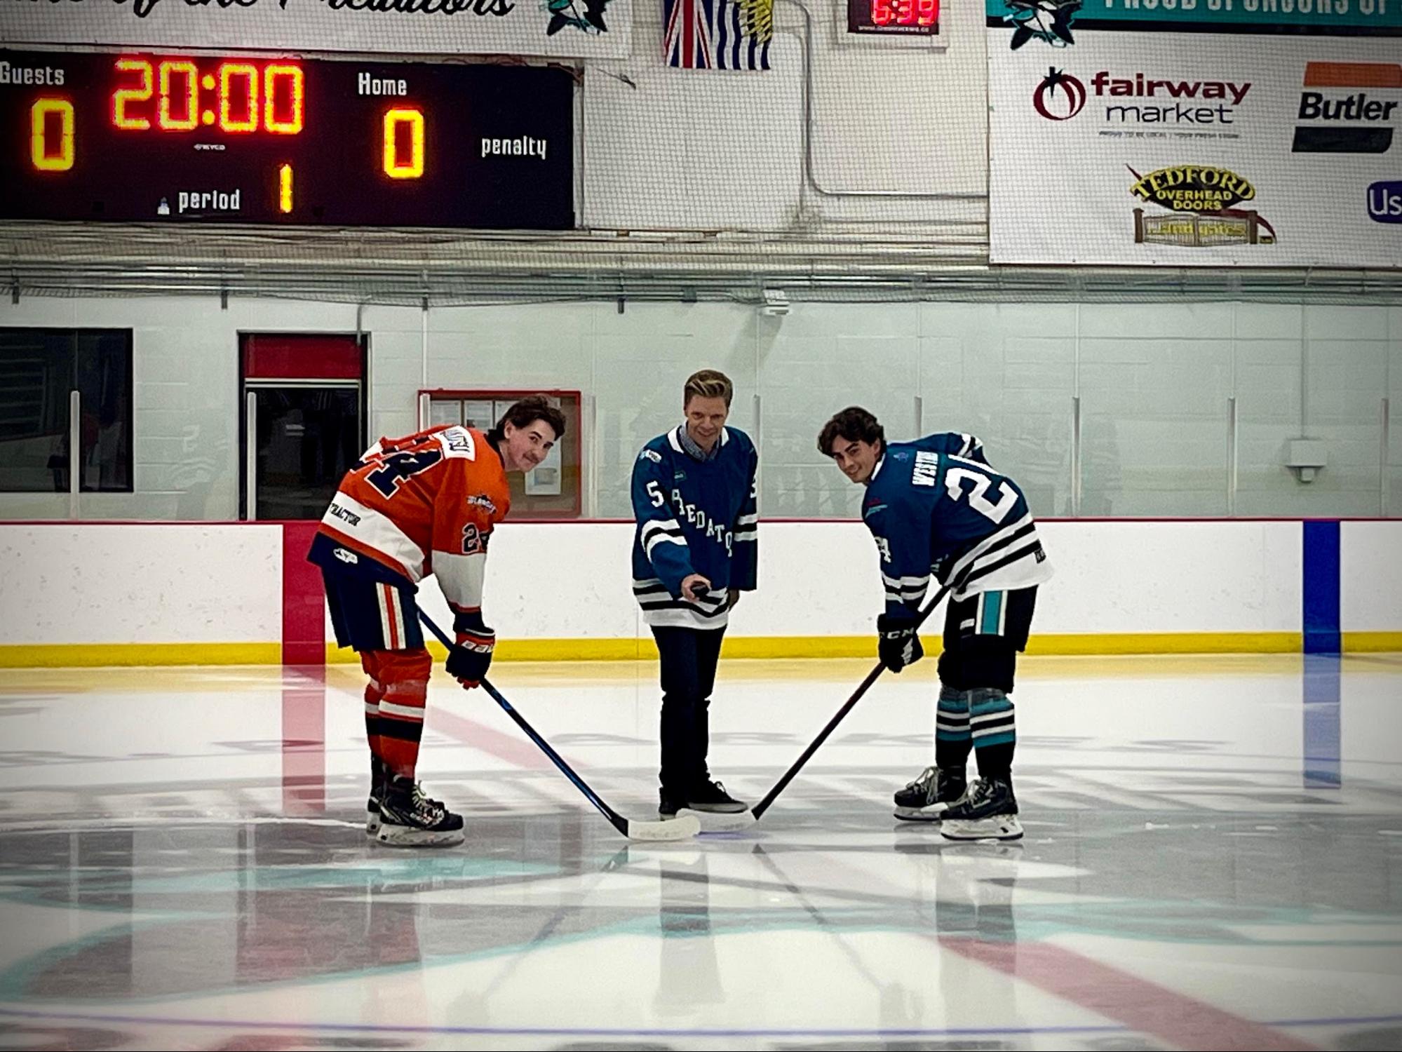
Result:
M0 492L69 492L79 391L83 492L132 492L132 332L0 328Z

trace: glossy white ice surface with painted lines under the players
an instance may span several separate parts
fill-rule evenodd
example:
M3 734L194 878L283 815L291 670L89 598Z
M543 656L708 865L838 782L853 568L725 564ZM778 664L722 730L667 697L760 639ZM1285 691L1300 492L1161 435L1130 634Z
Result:
M758 800L868 669L722 662L714 774ZM494 673L655 818L656 665ZM1402 1045L1402 655L1025 659L1019 844L892 818L934 673L660 846L439 673L419 777L467 842L405 851L355 666L0 672L0 1048Z

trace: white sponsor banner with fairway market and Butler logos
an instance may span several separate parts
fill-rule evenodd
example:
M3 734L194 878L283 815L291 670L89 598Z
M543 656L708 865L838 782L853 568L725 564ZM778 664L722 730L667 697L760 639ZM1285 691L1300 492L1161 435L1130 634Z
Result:
M994 6L993 262L1402 267L1402 38L1063 18L1014 49Z

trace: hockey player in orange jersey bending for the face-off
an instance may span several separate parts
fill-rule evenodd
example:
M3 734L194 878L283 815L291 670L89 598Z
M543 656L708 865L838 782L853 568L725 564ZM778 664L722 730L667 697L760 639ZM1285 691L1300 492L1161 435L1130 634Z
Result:
M353 647L370 677L366 835L400 847L463 842L463 818L415 780L433 661L414 593L435 574L458 647L449 675L475 687L496 637L482 620L482 575L492 527L510 511L508 471L530 471L565 435L565 417L541 396L512 405L491 431L437 426L380 439L336 491L308 558L321 567L336 642Z

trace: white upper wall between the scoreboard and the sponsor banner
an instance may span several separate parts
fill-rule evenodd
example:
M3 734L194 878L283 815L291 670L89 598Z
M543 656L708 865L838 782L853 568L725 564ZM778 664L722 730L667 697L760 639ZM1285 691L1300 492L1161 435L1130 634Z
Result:
M662 4L635 4L632 56L590 63L585 79L582 224L785 230L809 216L981 222L977 201L844 198L816 188L987 189L981 0L945 3L939 38L918 41L854 39L844 0L803 7L810 21L796 6L775 6L771 69L742 73L660 65ZM809 27L816 187L803 175Z

